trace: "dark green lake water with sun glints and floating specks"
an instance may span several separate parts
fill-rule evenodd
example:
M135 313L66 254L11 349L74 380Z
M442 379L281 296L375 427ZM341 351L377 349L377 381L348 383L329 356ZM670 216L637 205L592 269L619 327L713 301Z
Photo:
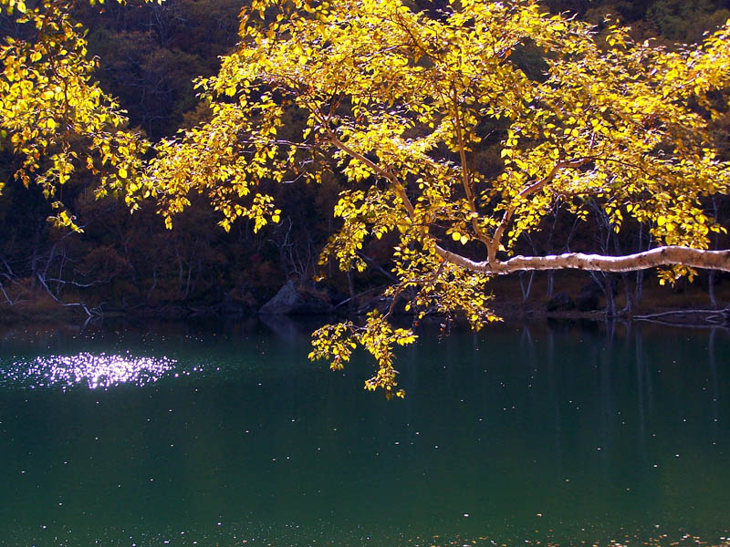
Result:
M0 545L730 545L730 335L496 325L0 331Z

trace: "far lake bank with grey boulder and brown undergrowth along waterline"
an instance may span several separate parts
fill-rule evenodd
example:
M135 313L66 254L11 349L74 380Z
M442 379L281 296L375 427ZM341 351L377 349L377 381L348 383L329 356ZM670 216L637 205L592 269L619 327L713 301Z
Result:
M527 277L527 276L526 276ZM648 276L647 276L648 277ZM699 283L680 280L675 286L661 286L656 280L647 279L636 289L629 284L626 290L622 284L614 286L612 300L615 314L607 315L605 290L601 292L585 275L562 272L555 275L553 290L549 290L545 275L537 275L527 284L518 275L496 277L490 285L492 299L487 306L506 322L526 321L652 321L667 325L730 325L730 284L717 283L713 287L714 303L710 291ZM282 285L280 291L290 284ZM363 293L356 300L355 309L347 308L344 303L327 302L324 292L312 291L307 287L291 284L291 291L302 297L296 309L281 314L262 314L262 307L270 301L241 303L231 300L219 302L170 301L162 304L120 305L117 303L66 304L51 300L47 294L31 294L24 301L13 305L0 302L0 325L16 323L55 323L79 324L104 319L153 320L153 321L190 321L190 320L245 320L255 317L330 317L357 318L376 306L382 306L377 296ZM276 298L276 297L275 297ZM349 299L348 299L349 300ZM627 300L629 305L627 305ZM588 301L588 304L586 302ZM347 302L347 301L345 301ZM402 310L397 321L412 318L412 314ZM589 307L589 309L586 309ZM409 319L410 320L410 319ZM455 321L461 323L458 319Z

